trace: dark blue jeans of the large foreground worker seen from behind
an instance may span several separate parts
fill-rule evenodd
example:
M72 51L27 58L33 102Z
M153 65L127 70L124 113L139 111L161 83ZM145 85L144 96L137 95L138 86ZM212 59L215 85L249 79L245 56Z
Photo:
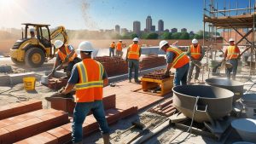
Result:
M72 141L73 143L83 140L83 128L84 119L89 112L93 113L96 118L102 134L108 134L109 128L105 118L105 112L102 101L94 102L77 102L73 111L73 123L72 123Z

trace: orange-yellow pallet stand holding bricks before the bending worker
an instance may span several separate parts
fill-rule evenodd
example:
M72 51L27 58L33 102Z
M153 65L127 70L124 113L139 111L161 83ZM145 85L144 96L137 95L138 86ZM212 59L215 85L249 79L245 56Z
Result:
M172 91L173 78L174 76L170 76L170 78L165 79L142 78L143 91L148 91L148 89L157 89L160 87L159 94L166 95Z

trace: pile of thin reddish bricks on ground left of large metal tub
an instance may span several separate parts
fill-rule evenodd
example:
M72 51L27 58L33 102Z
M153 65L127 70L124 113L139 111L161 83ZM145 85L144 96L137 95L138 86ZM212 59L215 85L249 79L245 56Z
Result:
M172 105L172 99L162 102L159 105L150 108L148 112L160 114L161 116L170 117L176 112L176 108Z

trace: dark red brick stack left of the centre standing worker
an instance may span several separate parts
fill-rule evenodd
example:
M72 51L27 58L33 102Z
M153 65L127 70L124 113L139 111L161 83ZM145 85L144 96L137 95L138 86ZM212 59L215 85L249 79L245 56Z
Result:
M116 76L128 72L127 63L119 56L99 56L96 57L95 60L102 63L108 76Z

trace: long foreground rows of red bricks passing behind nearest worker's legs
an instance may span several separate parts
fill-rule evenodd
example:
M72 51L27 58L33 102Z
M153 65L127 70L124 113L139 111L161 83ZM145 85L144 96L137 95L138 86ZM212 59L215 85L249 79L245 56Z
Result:
M113 104L107 105L107 101ZM108 124L137 113L137 107L115 107L115 95L104 101ZM98 130L92 114L83 124L84 135ZM68 113L55 109L42 109L42 101L26 101L0 107L0 144L9 143L68 143L72 124Z

